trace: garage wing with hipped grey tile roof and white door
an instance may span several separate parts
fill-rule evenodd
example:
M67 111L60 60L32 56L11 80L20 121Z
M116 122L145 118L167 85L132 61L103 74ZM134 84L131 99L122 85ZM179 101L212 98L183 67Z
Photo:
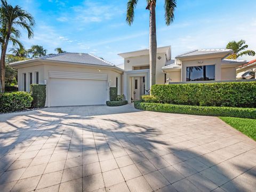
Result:
M122 93L123 70L84 53L60 53L11 63L18 69L19 91L46 84L46 106L105 105L109 87Z

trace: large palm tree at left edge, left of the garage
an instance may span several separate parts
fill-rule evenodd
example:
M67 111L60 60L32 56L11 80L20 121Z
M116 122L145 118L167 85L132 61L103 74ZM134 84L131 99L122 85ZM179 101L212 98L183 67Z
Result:
M14 44L20 44L17 38L20 37L19 27L27 30L28 38L33 37L32 27L35 25L34 18L20 6L12 6L6 0L1 0L0 7L1 25L1 92L5 91L5 57L9 40Z

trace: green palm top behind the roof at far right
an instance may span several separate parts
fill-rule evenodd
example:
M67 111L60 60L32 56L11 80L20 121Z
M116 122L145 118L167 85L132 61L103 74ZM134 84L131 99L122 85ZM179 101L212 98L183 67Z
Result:
M241 39L240 41L231 41L227 44L226 48L234 51L234 54L231 54L227 57L227 59L237 59L242 55L250 55L254 56L255 52L252 50L245 50L248 48L248 45L244 45L245 41ZM243 51L245 50L245 51Z

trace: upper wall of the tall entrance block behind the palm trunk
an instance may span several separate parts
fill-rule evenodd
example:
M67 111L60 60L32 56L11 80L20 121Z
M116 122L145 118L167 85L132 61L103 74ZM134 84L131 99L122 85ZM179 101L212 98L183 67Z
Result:
M165 66L165 53L157 53L156 59L156 84L164 84L164 74L162 73L162 67ZM127 62L129 60L129 62ZM142 55L137 57L129 57L124 59L124 70L133 70L135 66L149 66L149 55Z

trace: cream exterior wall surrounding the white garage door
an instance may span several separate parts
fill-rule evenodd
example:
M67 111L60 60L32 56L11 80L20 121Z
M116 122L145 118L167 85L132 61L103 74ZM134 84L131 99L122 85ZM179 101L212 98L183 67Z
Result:
M18 68L18 67L17 67ZM23 73L26 73L27 77L27 87L29 87L29 73L33 73L33 83L35 83L35 72L38 71L39 73L39 84L46 84L49 83L49 71L68 71L68 72L77 72L77 73L93 73L93 74L107 74L108 75L108 86L107 86L107 98L109 99L109 86L115 87L116 86L116 77L118 77L118 94L123 94L122 90L122 72L117 72L114 69L107 69L102 68L101 66L78 66L78 65L67 65L66 63L57 63L52 65L50 62L44 62L44 64L31 66L31 67L23 67L18 68L18 86L19 91L23 91ZM46 88L46 92L49 92L49 87ZM27 89L29 91L29 89ZM49 106L49 98L48 94L46 93L46 103L45 106Z

